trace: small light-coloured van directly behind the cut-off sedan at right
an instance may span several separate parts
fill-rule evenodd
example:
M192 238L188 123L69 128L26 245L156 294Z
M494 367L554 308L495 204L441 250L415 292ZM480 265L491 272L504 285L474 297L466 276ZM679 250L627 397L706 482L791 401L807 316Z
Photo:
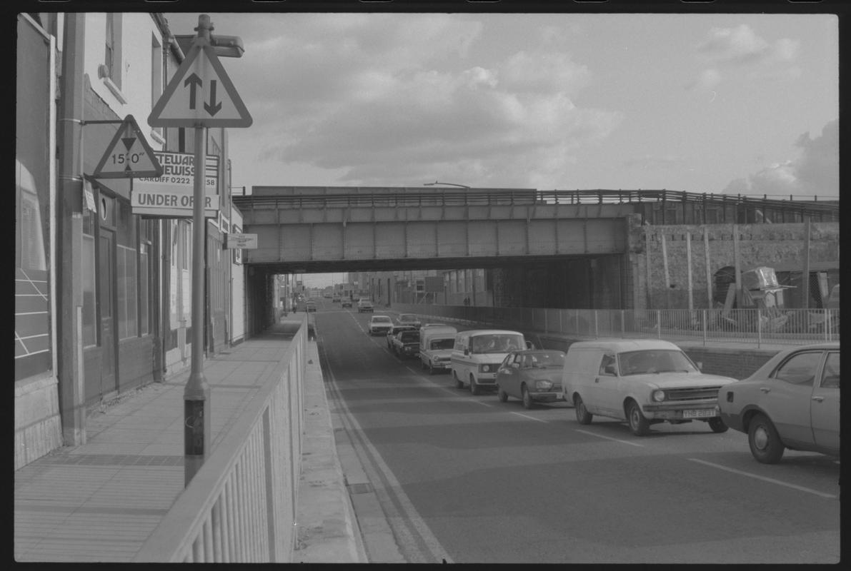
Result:
M718 391L734 378L705 375L671 342L613 339L574 342L564 358L562 392L576 420L594 415L627 421L644 436L650 425L705 421L712 432L727 426L718 412Z

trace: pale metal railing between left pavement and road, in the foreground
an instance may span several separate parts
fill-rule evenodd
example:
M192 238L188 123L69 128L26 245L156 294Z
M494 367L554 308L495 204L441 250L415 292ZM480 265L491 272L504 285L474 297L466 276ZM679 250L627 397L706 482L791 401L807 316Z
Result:
M304 425L307 324L134 558L289 563ZM277 377L277 378L274 378Z

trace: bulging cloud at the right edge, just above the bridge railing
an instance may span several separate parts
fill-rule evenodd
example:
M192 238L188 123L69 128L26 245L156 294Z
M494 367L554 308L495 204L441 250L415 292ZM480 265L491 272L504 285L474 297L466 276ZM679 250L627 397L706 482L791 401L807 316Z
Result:
M839 195L839 120L825 124L820 136L809 133L798 137L801 150L797 159L775 163L747 178L731 181L726 194L756 195Z

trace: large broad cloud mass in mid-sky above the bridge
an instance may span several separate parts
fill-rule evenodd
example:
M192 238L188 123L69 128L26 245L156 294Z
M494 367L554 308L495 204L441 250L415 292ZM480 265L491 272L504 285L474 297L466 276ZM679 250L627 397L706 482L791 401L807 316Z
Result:
M363 186L435 178L552 186L569 178L575 150L606 139L622 121L619 112L574 104L593 78L551 37L501 59L473 60L476 21L372 16L306 20L285 39L258 40L266 62L287 54L254 81L255 99L246 101L254 134L276 135L261 161L333 169L340 181ZM458 69L443 71L447 60Z

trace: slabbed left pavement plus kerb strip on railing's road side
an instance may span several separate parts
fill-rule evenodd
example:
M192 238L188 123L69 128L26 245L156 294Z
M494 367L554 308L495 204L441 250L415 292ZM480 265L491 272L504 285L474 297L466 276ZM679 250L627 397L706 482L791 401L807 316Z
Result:
M286 332L300 319L283 320L205 359L212 454L260 390L257 380L279 365L289 343ZM334 443L317 343L307 345L292 561L368 563ZM183 390L189 373L187 367L122 395L89 415L85 444L56 449L14 472L16 562L134 560L184 489Z

